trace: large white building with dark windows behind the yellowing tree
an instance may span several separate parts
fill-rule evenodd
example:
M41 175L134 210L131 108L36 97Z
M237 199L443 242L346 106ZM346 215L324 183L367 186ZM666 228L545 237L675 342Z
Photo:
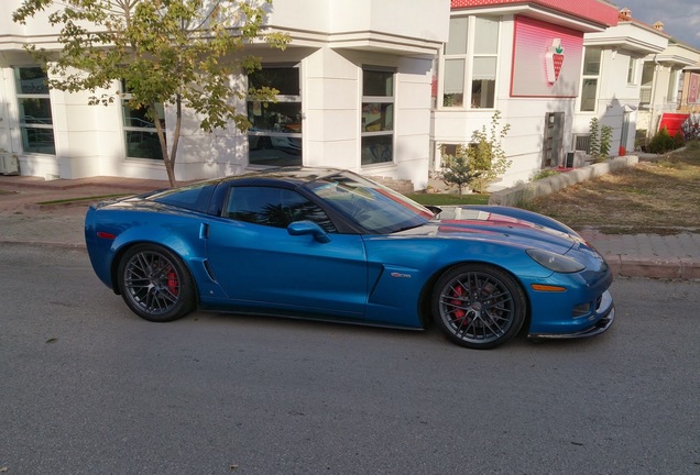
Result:
M13 11L20 0L6 2ZM254 129L214 134L188 118L176 162L179 180L270 165L327 165L427 183L431 63L447 41L449 0L278 0L267 24L287 48L260 48L264 75L281 90L248 108ZM429 14L426 14L429 12ZM120 103L88 106L88 93L48 90L25 44L58 47L45 16L28 25L0 18L0 148L23 175L166 179L154 126ZM264 76L264 79L262 79ZM245 78L241 78L245 84ZM119 84L114 88L120 87ZM173 113L163 111L166 129Z

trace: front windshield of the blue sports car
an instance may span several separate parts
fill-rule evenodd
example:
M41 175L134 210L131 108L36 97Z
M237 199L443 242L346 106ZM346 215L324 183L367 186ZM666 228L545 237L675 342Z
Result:
M425 224L433 212L391 188L351 173L318 178L308 189L372 234L389 234Z

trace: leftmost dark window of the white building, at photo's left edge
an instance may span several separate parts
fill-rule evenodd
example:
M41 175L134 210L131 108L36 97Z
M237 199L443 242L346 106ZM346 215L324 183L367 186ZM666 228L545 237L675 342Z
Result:
M20 134L25 153L56 154L48 76L41 67L14 68Z

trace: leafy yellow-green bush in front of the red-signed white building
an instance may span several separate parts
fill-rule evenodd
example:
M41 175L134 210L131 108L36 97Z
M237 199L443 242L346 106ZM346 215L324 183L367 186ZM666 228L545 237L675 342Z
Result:
M501 111L495 111L491 118L489 130L483 125L481 130L473 131L471 143L458 145L455 155L442 153L442 180L448 185L455 185L462 195L466 186L471 186L474 191L483 194L489 184L503 175L511 166L511 161L505 156L501 141L507 135L510 124L500 128Z

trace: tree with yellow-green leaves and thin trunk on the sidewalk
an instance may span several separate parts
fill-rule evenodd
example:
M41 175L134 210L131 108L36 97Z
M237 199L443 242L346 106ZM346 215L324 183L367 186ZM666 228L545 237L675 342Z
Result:
M236 99L252 96L271 101L278 92L271 88L240 90L232 80L241 71L261 68L259 57L243 54L247 45L263 40L284 49L288 42L284 34L263 32L271 2L24 0L12 19L25 24L46 11L50 23L59 29L59 52L26 46L50 73L51 88L88 90L90 104L107 106L120 98L120 90L110 89L123 81L130 95L127 106L145 110L155 125L167 177L175 186L183 108L198 114L206 132L230 123L244 131L251 124L237 110ZM167 142L157 104L175 107Z

